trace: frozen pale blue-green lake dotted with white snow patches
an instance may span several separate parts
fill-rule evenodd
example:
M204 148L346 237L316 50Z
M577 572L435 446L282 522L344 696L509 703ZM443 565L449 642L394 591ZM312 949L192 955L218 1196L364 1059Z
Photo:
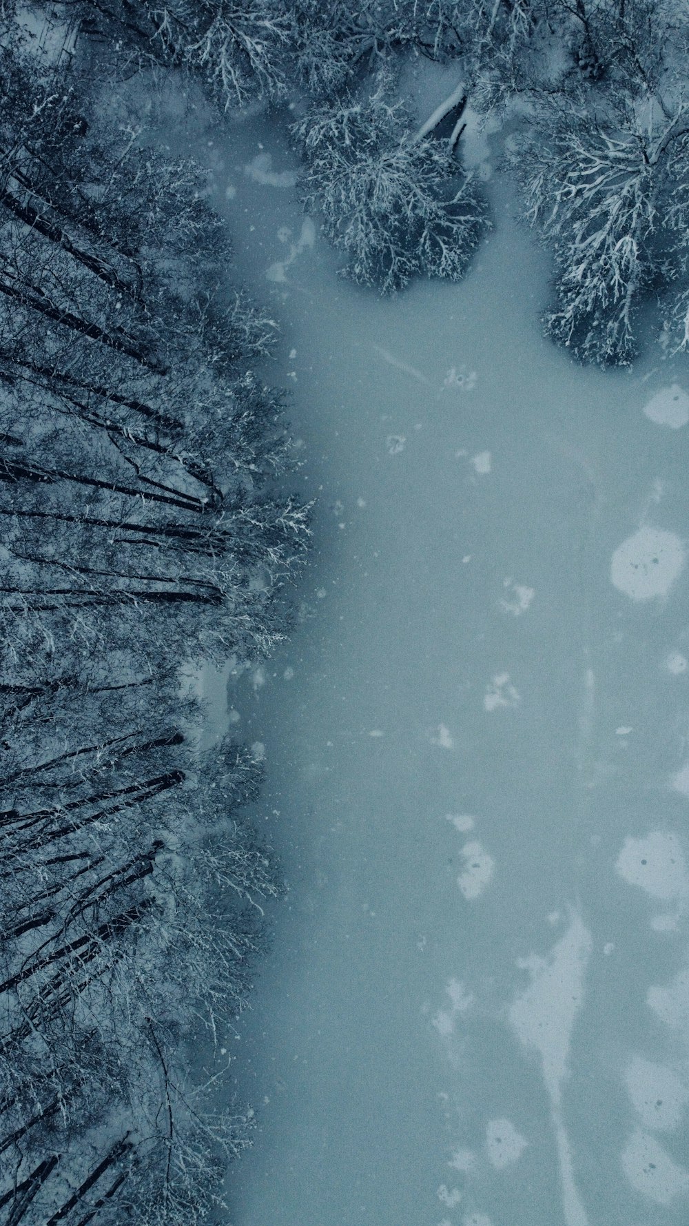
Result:
M319 498L302 619L229 693L291 885L232 1222L679 1226L687 365L543 341L494 181L466 281L381 300L336 278L280 132L207 140Z

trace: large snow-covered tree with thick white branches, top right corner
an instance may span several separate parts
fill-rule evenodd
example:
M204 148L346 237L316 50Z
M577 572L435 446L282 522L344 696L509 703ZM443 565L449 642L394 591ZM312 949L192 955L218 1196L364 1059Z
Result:
M624 365L650 287L673 291L676 329L685 316L689 96L676 56L688 27L640 0L612 9L596 11L597 25L587 16L591 38L607 29L615 49L604 74L537 98L510 162L553 250L546 331L582 360Z

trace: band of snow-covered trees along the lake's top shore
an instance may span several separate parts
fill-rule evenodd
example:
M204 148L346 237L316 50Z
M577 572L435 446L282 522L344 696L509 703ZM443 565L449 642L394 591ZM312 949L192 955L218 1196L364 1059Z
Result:
M223 107L288 97L303 197L384 291L456 278L487 229L461 159L465 109L517 121L506 166L553 254L548 335L577 358L628 364L640 309L689 348L689 11L680 0L64 0L121 63L194 72ZM456 67L416 124L397 66Z

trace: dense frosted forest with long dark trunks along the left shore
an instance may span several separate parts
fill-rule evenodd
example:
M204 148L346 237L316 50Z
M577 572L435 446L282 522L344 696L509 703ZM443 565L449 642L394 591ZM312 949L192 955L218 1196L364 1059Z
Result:
M283 636L308 508L273 481L275 324L227 287L202 175L20 36L6 15L0 1222L186 1226L248 1140L206 1091L278 879L243 818L260 766L200 753L180 671Z

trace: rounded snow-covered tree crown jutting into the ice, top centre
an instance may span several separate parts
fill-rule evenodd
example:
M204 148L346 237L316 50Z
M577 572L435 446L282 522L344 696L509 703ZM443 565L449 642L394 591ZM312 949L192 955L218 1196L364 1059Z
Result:
M385 293L413 276L463 275L484 205L450 150L414 135L386 74L370 96L318 105L292 131L306 163L304 205L347 255L343 276Z

